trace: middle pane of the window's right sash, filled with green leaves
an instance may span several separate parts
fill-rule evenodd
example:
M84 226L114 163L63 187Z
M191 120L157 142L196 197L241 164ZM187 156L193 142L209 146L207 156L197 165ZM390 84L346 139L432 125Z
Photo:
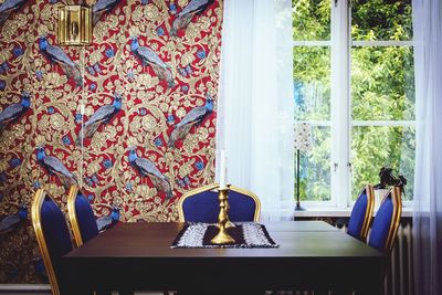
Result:
M355 120L414 120L412 48L354 48L351 60Z

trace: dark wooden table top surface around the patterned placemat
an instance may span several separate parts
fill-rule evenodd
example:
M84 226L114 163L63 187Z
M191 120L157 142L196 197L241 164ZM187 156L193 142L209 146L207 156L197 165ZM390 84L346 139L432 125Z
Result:
M183 223L122 223L65 257L317 256L383 257L385 254L322 221L263 223L280 245L274 249L171 249Z

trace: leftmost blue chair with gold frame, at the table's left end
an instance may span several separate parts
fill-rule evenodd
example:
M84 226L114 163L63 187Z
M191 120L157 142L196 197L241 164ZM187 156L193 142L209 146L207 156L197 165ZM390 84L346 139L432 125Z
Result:
M32 224L52 294L60 295L63 293L60 286L65 277L60 261L73 249L66 220L55 201L43 189L35 192L31 210Z

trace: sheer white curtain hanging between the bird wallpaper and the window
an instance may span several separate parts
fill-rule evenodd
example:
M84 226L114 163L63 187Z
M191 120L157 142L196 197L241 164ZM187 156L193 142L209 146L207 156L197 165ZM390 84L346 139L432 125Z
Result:
M224 1L217 156L225 149L228 181L260 197L263 220L293 209L291 8L290 0Z

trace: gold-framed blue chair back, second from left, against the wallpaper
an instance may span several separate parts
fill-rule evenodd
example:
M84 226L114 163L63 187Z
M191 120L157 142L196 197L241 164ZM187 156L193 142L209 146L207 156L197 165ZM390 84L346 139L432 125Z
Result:
M67 214L76 246L98 235L94 211L77 186L71 187L67 197Z

